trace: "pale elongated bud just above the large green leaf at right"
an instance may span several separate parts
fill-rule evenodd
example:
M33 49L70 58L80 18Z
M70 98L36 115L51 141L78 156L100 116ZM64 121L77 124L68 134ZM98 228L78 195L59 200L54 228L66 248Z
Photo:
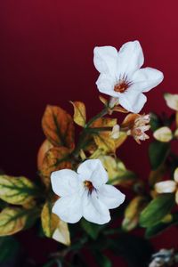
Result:
M155 190L161 193L173 193L176 190L176 182L172 180L164 181L164 182L157 182L155 184Z

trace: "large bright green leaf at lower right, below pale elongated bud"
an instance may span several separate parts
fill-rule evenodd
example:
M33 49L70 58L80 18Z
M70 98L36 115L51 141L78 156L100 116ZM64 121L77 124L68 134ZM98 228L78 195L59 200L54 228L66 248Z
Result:
M152 227L159 223L166 214L170 213L174 206L174 194L162 194L158 198L150 201L140 216L140 224L142 227Z

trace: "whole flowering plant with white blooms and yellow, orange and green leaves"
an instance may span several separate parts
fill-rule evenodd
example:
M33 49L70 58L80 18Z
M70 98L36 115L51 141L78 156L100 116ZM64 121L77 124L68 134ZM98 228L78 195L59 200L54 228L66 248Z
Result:
M34 227L41 237L59 243L45 267L88 266L85 248L97 266L112 266L105 251L124 256L129 266L148 266L153 252L150 242L129 232L141 226L151 238L178 222L177 213L171 213L178 203L178 159L170 152L170 142L178 136L178 96L165 95L175 116L139 114L147 101L143 93L161 83L163 74L141 69L138 41L124 44L118 52L111 46L95 47L93 61L100 72L98 90L109 95L99 96L103 109L87 120L82 101L71 101L73 117L61 107L47 106L42 118L45 140L37 153L41 179L32 182L23 176L0 175L2 262L16 244L7 236ZM121 122L118 112L125 115ZM77 138L75 126L81 129ZM150 143L151 172L146 184L127 170L117 150L129 137L139 144L147 140L150 127L156 141ZM169 169L174 180L162 182ZM123 193L128 190L134 196L131 199Z

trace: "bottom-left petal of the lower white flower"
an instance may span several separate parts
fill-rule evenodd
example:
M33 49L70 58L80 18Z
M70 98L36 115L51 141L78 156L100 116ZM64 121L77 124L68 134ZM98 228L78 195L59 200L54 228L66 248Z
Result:
M53 206L53 214L66 223L77 223L82 217L82 203L78 194L58 199Z

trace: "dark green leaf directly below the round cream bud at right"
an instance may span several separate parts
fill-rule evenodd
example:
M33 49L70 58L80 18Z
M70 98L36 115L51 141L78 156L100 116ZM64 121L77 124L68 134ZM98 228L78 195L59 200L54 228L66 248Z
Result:
M162 165L170 151L170 143L168 142L151 142L149 148L150 165L153 170Z

